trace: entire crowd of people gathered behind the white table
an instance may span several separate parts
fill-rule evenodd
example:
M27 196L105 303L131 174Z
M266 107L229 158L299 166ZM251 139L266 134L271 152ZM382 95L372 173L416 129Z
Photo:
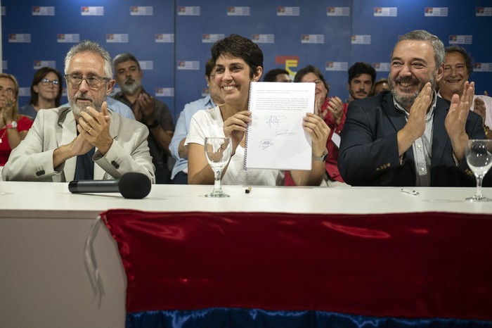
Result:
M242 168L251 122L250 82L263 76L265 81L290 82L288 72L266 72L259 46L238 34L216 42L210 56L205 71L210 96L185 106L179 134L167 105L143 89L143 72L131 53L112 59L96 42L73 46L65 58L69 102L63 106L62 75L53 68L34 74L32 96L22 110L15 77L0 75L3 179L69 182L142 172L154 183L212 184L205 137L231 137L233 156L222 173L224 184L476 183L465 145L469 139L491 137L492 101L474 94L472 59L465 49L445 49L427 31L408 32L391 52L387 79L376 81L375 69L367 63L349 68L346 102L328 96L330 84L318 68L299 69L294 82L316 84L315 108L302 122L312 141L312 168L292 171ZM116 82L121 91L108 101ZM127 113L120 115L124 110L117 108L127 108ZM486 175L484 186L491 185L491 176Z

